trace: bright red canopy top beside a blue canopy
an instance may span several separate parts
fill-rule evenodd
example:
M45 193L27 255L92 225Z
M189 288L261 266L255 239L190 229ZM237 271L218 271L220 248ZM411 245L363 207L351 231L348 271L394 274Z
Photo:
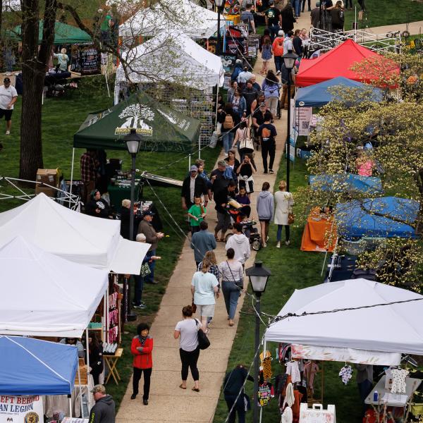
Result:
M357 74L351 71L351 67L369 57L383 57L374 51L362 47L352 39L347 39L338 47L322 54L317 59L302 59L300 63L300 71L297 74L295 85L300 87L307 87L319 82L323 82L338 76L343 76L351 80L359 82L371 82L374 73L369 69L369 73ZM393 63L390 59L386 59L386 70L399 73L398 65Z

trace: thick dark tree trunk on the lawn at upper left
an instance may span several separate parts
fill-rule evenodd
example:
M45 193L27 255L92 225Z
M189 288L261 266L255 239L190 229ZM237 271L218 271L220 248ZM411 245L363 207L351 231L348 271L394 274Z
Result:
M56 0L47 0L44 30L38 47L39 0L21 0L22 5L22 116L20 121L19 177L35 180L42 161L42 92L54 40Z

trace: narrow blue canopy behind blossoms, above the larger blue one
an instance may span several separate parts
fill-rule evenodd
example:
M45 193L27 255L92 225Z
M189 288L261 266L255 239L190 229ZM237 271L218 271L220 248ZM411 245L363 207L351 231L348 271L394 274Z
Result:
M309 184L312 190L333 192L359 191L367 195L377 195L383 192L380 178L360 176L353 173L310 175Z

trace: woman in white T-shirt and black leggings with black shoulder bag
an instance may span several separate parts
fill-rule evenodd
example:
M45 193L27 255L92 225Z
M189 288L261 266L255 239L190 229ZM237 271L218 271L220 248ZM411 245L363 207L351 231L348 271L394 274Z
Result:
M179 338L179 356L182 363L180 376L182 377L182 384L179 385L181 389L187 388L188 368L191 369L192 379L194 379L194 387L192 391L200 392L198 380L200 374L197 369L197 361L200 355L200 348L198 348L197 332L202 327L200 321L192 319L192 306L185 305L182 309L183 320L178 321L173 338Z

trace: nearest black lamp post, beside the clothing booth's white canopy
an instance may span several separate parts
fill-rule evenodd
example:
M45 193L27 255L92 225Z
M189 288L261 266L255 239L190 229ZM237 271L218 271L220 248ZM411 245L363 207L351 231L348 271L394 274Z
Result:
M271 271L262 266L262 262L255 262L254 266L245 270L245 274L250 278L252 291L255 293L255 360L254 360L254 416L253 422L259 422L259 353L257 352L260 346L260 300L262 293L266 290L267 280L271 275Z

